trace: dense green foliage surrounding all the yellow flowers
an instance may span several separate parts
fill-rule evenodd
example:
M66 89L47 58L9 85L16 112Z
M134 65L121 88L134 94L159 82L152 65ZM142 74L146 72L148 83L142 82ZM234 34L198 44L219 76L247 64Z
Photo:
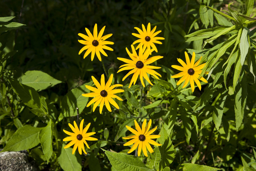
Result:
M252 0L1 1L1 152L28 150L41 170L256 170L255 16ZM106 26L103 35L113 34L114 51L105 50L102 62L78 55L78 33L92 33L95 23L98 33ZM134 27L148 23L164 37L149 56L163 56L150 64L162 77L129 87L134 79L122 81L129 71L118 72L124 62L117 58L129 58ZM200 81L201 90L172 78L184 52L190 59L195 52L195 62L202 56L208 83ZM82 94L102 74L123 85L116 93L123 101L114 98L120 109L86 107L92 98ZM126 126L141 127L145 118L162 145L151 145L148 157L127 155L132 145L122 137L134 134ZM87 154L72 154L63 129L72 132L69 124L82 119L94 141Z

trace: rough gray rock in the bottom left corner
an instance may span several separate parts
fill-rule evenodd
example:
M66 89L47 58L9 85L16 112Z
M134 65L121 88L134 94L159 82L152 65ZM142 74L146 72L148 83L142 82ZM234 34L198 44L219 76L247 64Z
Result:
M0 153L0 170L1 171L38 171L35 160L28 156L27 150L19 152Z

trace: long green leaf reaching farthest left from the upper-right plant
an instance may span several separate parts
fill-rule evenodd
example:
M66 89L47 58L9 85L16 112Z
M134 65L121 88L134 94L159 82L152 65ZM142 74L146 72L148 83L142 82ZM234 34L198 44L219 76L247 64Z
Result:
M200 39L204 39L204 38L209 38L211 36L214 36L218 33L220 33L221 31L230 28L228 26L221 26L221 27L214 27L214 28L208 28L208 29L202 29L202 30L198 30L194 33L188 34L185 37L189 37L186 42L191 42L191 41L195 41L195 40L200 40Z

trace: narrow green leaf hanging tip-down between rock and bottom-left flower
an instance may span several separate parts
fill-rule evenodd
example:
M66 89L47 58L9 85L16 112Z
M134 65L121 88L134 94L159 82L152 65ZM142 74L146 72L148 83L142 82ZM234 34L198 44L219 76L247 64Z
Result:
M42 150L47 159L47 164L52 155L52 131L53 131L54 123L52 123L51 119L49 120L46 127L40 130L39 133L39 141L42 145Z

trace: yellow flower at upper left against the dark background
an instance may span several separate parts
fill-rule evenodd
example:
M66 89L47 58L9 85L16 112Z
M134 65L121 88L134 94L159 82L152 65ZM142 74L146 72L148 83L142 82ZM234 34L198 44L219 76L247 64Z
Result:
M98 59L101 61L101 56L100 56L100 52L104 55L104 56L108 56L105 51L103 49L107 49L110 51L113 51L112 48L106 46L106 45L113 45L113 42L109 42L109 41L105 41L107 38L109 38L110 36L112 36L112 34L108 34L105 36L102 36L103 32L104 32L105 26L100 30L100 33L98 35L97 32L97 24L94 25L94 29L93 29L93 36L91 34L91 32L89 31L88 28L85 28L86 33L88 34L88 36L82 34L82 33L78 33L79 36L81 36L82 38L85 39L84 40L78 40L79 43L84 44L85 46L79 51L79 55L87 49L87 51L85 52L83 58L85 58L87 55L89 55L89 53L91 53L91 60L93 60L94 55L96 53ZM98 36L97 36L98 35Z

